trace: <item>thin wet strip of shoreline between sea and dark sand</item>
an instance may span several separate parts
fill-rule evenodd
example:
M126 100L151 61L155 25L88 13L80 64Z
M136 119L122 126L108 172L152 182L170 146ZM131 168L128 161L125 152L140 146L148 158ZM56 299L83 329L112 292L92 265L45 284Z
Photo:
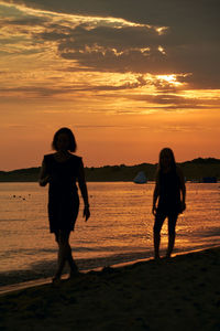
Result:
M194 253L202 253L209 249L215 249L215 248L219 248L220 249L220 245L213 245L213 246L209 246L206 248L197 248L197 249L191 249L191 250L185 250L185 252L176 252L172 255L172 258L175 258L177 256L187 256L189 254L194 254ZM165 259L164 257L161 258L161 260ZM128 266L132 266L135 265L138 263L147 263L147 261L152 261L154 260L154 257L142 257L142 258L136 258L136 259L132 259L129 261L119 261L119 263L113 263L112 265L108 265L108 266L99 266L99 267L94 267L94 268L85 268L85 269L80 269L80 274L88 274L91 271L101 271L105 268L123 268L123 267L128 267ZM64 274L62 276L62 280L65 280L68 278L68 274ZM52 277L43 277L43 278L35 278L35 279L31 279L31 280L26 280L26 281L21 281L21 282L14 282L14 284L9 284L9 285L3 285L0 286L0 297L3 295L8 295L14 291L19 291L19 290L23 290L26 288L33 288L33 287L38 287L42 285L50 285L52 282Z

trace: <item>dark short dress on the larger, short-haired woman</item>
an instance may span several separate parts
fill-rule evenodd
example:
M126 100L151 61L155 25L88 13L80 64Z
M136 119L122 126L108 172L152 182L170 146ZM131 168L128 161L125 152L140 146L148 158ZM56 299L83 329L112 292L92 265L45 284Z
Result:
M54 154L44 156L46 173L50 175L48 221L51 233L74 231L79 211L76 180L82 166L80 157L72 154L64 162L56 161Z

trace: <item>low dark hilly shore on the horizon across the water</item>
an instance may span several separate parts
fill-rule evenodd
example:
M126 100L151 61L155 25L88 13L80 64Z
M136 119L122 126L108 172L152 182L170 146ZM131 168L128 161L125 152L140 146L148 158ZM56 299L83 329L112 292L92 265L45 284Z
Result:
M216 178L220 180L220 159L207 158L195 159L178 163L186 180L201 182L204 178ZM88 182L113 182L133 181L134 177L144 171L148 181L154 181L157 164L142 163L135 166L105 166L99 168L85 168ZM0 171L0 182L36 182L40 167L19 169L13 171Z

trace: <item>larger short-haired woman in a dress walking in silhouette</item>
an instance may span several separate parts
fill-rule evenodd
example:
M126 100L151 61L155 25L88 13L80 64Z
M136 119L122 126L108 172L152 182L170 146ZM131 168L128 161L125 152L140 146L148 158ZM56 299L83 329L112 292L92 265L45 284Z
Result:
M72 256L69 235L74 231L79 210L79 196L76 181L84 199L84 216L90 216L87 185L81 158L73 154L76 151L74 134L68 128L59 129L52 147L55 153L44 156L38 183L48 188L48 220L51 233L55 234L58 244L58 266L53 281L61 279L65 263L70 268L70 277L78 268Z

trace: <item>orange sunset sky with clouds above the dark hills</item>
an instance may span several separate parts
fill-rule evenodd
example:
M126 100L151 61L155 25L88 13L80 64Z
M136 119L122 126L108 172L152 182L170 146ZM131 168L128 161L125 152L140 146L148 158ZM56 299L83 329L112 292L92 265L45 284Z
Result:
M220 158L219 0L0 0L0 170Z

